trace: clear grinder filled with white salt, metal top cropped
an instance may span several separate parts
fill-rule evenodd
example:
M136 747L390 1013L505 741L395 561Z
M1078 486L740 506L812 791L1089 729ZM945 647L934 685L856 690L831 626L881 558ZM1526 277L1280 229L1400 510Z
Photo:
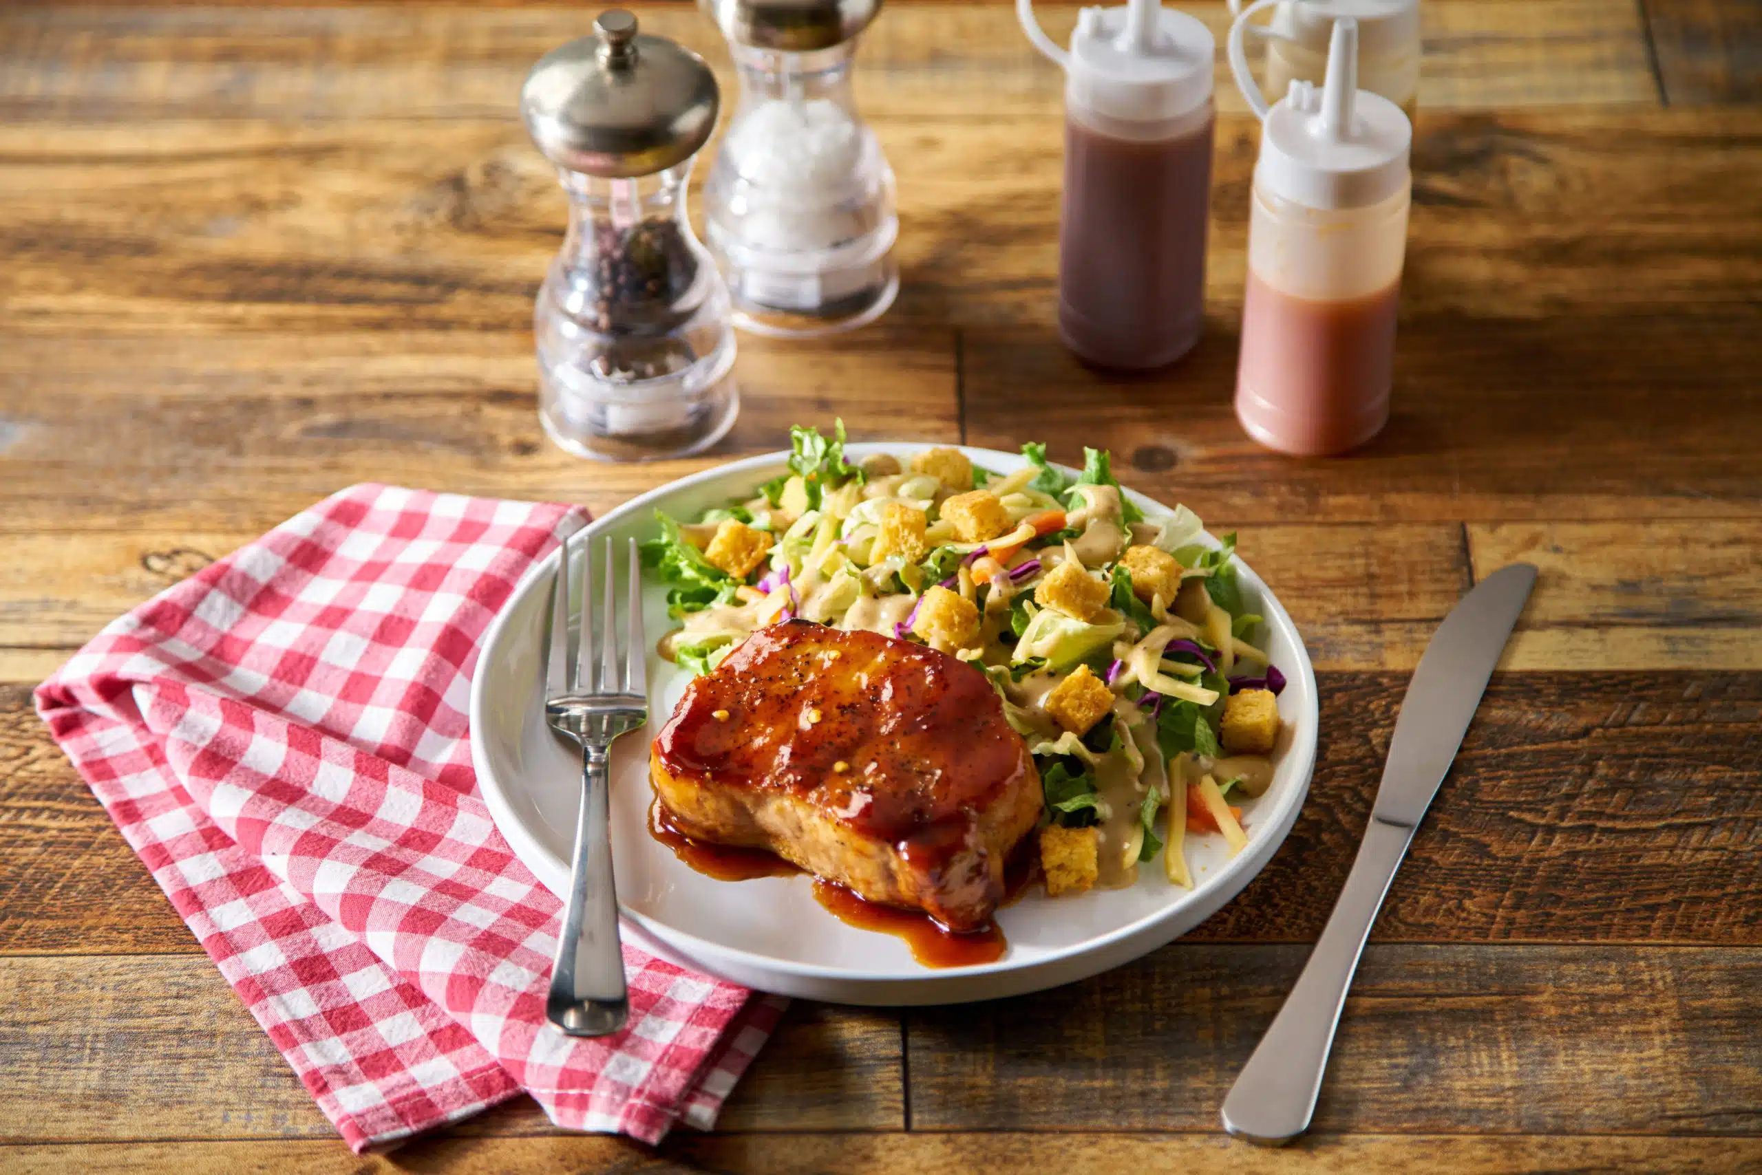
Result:
M735 324L805 338L881 317L899 292L893 171L851 99L881 0L701 0L740 76L703 187Z

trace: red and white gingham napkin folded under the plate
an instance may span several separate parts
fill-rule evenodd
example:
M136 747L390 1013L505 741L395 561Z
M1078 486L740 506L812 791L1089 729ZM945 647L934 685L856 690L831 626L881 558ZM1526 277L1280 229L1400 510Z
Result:
M708 1127L782 1001L631 946L631 1022L544 1020L555 897L467 742L478 641L578 507L363 484L106 627L37 712L354 1150L532 1094Z

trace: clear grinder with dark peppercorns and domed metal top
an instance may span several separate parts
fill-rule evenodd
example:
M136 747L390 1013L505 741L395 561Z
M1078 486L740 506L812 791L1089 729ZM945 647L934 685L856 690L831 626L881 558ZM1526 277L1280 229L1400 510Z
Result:
M576 456L698 453L740 409L728 287L685 218L721 97L703 58L638 33L631 12L594 30L539 58L520 92L569 197L532 317L539 421Z

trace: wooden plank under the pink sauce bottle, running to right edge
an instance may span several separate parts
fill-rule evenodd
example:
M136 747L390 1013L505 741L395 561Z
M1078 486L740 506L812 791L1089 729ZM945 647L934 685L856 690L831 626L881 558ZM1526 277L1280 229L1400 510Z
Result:
M1092 372L1040 331L967 331L967 440L1045 437L1128 460L1121 477L1202 518L1755 520L1762 314L1692 319L1455 319L1413 314L1396 340L1388 428L1351 456L1251 442L1232 407L1235 326L1168 372Z

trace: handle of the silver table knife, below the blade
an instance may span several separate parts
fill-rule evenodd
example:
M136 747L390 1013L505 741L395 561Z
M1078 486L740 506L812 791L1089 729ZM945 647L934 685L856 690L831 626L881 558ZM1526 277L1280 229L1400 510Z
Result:
M1237 1138L1283 1147L1309 1129L1351 972L1410 840L1411 824L1371 817L1297 987L1223 1099L1223 1127Z

